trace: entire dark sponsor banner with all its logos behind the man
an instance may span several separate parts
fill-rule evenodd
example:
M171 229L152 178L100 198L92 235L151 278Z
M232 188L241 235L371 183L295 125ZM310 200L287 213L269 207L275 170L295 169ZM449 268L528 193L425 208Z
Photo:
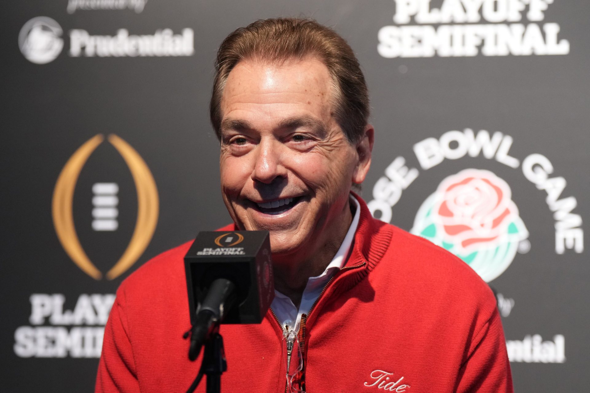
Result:
M120 282L230 222L215 51L280 15L333 26L358 55L373 215L494 289L517 391L587 391L584 0L4 4L0 390L91 391Z

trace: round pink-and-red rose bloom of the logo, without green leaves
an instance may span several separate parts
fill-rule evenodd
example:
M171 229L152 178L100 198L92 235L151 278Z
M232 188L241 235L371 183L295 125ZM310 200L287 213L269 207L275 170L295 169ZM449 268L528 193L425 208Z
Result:
M434 206L445 242L462 252L495 247L518 217L506 181L486 170L466 169L442 181Z

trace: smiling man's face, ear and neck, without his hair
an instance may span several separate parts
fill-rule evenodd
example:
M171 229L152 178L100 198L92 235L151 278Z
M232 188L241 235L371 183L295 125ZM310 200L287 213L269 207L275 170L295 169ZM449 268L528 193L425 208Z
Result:
M275 285L295 306L342 245L350 187L371 162L373 128L349 141L333 115L334 90L312 55L254 57L230 72L221 99L225 205L240 229L270 231Z

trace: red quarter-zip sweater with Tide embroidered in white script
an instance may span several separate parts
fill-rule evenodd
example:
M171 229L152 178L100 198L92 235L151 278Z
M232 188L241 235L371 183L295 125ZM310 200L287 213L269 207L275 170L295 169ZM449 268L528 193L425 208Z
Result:
M352 252L299 332L304 388L319 392L512 392L489 286L427 240L361 212ZM236 230L234 225L223 228ZM190 243L123 281L104 331L96 392L185 392L201 358L183 257ZM222 325L223 392L284 392L286 342L271 310L260 325ZM202 356L202 352L201 352ZM205 379L197 388L205 392Z

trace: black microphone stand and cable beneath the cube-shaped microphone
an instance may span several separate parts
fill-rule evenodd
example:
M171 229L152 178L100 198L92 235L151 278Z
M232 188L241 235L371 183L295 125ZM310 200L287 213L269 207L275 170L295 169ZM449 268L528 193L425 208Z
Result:
M225 361L223 337L219 334L219 325L216 325L211 337L205 341L205 352L199 374L186 393L195 391L203 375L207 375L207 393L220 393L221 374L224 371L227 371L227 361Z

